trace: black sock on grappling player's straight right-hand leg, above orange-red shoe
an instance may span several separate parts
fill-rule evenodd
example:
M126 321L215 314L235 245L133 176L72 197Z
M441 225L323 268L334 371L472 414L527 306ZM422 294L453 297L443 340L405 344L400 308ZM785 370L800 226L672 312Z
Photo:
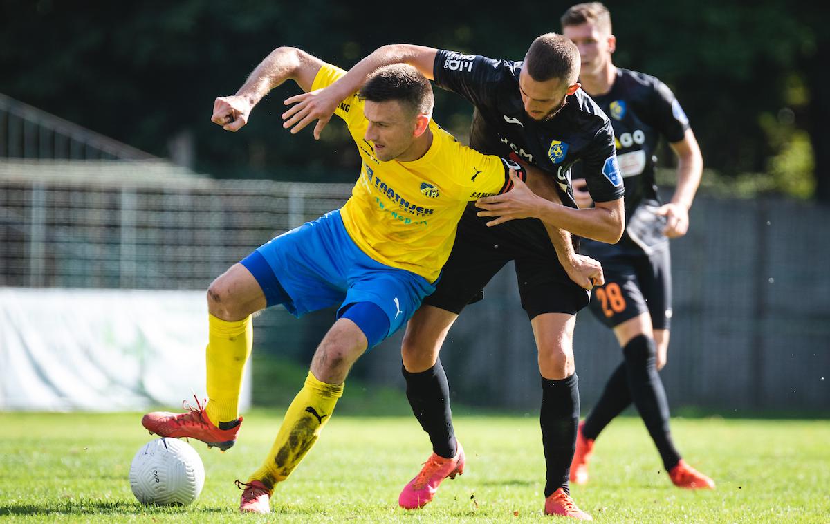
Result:
M542 377L542 446L547 467L544 497L559 488L570 494L568 476L576 448L576 429L579 425L579 379L574 375L561 381Z

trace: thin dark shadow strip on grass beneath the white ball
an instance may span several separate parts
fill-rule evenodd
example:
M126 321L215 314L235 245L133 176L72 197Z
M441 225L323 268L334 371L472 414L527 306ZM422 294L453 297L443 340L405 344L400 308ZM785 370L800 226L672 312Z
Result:
M0 517L11 515L156 515L222 513L227 507L142 506L138 502L62 501L43 504L0 505Z

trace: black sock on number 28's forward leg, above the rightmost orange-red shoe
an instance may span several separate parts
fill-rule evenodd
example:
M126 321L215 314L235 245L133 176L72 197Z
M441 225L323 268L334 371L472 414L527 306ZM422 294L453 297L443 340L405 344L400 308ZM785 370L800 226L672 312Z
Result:
M671 442L669 429L669 404L663 382L657 374L657 348L654 339L640 335L623 347L628 388L648 434L652 435L657 452L666 471L680 462L680 454Z

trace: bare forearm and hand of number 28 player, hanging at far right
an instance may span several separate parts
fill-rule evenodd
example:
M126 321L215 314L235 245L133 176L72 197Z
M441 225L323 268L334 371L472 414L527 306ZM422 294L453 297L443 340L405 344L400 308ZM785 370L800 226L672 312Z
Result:
M657 214L666 216L663 233L669 238L677 238L686 235L689 230L689 209L695 200L697 187L701 185L703 157L691 129L686 129L686 135L680 142L671 143L671 148L677 154L677 188L671 201L660 206Z

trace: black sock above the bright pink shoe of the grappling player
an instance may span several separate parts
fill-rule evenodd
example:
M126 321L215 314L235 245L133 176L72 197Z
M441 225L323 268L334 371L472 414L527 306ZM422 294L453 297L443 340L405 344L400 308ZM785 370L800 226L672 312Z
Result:
M427 371L410 373L406 368L402 371L403 378L407 380L409 405L423 430L429 434L432 451L443 458L455 457L458 443L452 429L450 385L441 359Z

